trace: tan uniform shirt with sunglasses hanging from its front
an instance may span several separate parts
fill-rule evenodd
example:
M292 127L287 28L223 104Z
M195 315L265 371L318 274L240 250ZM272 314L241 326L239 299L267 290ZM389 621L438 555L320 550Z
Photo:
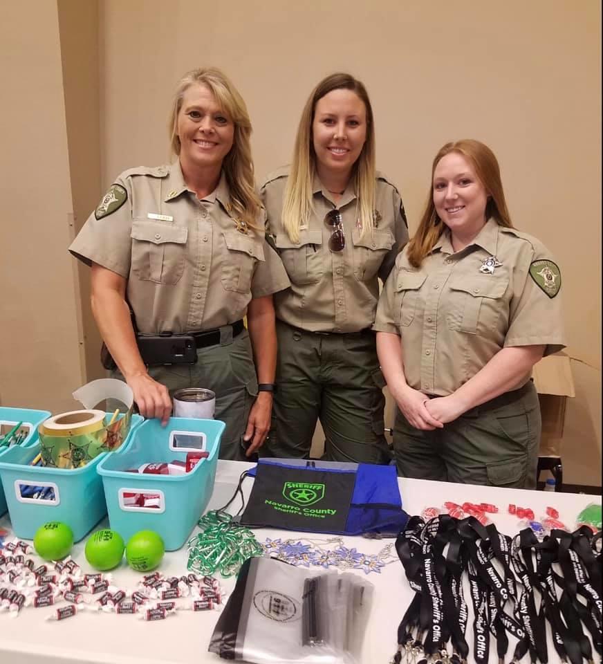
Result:
M277 318L312 332L358 332L375 320L379 297L378 277L384 282L396 254L408 240L400 194L378 174L375 228L360 238L358 199L349 183L335 204L319 178L314 181L315 214L299 242L290 241L281 222L288 167L268 177L261 196L268 214L268 229L275 240L291 288L275 296ZM339 209L346 238L343 251L331 252L331 227L327 212Z

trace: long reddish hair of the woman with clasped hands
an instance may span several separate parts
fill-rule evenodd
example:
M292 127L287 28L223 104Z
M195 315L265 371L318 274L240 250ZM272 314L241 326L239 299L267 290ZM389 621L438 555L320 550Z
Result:
M486 192L488 192L488 203L485 206L485 218L495 219L500 226L513 228L507 203L505 202L505 192L501 181L501 169L494 152L479 140L472 138L463 138L455 142L446 143L440 148L434 158L432 165L432 185L429 187L427 196L427 205L425 212L421 216L419 227L411 241L408 243L409 263L418 268L423 259L434 248L436 242L443 233L445 224L436 212L434 204L434 173L440 160L451 152L458 152L467 158L475 169L475 174L479 178Z

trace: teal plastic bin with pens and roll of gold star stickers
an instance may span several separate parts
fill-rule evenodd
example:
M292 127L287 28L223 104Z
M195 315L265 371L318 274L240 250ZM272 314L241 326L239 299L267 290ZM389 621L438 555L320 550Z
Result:
M107 413L111 417L113 413ZM60 521L73 531L79 542L106 515L106 504L97 468L104 457L125 450L129 438L144 418L132 415L130 429L118 450L102 452L82 468L48 468L30 465L40 451L39 439L24 447L13 447L0 458L2 481L12 530L17 537L33 540L37 529L49 521ZM24 486L53 489L52 499L24 497Z

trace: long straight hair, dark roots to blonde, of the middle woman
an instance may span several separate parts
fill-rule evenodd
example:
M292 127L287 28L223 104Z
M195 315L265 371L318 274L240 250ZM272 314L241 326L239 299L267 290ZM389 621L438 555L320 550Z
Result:
M373 210L375 209L375 127L373 109L367 89L353 76L335 73L324 78L310 93L310 97L299 120L293 161L291 163L283 202L283 226L292 242L299 240L299 227L307 225L313 213L312 185L316 173L316 154L313 144L312 124L316 104L333 90L351 90L364 102L367 110L367 140L353 166L352 177L358 212L362 225L362 235L373 230Z

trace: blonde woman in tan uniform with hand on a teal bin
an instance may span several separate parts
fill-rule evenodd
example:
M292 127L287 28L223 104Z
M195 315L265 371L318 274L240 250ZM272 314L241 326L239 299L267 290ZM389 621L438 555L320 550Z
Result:
M187 73L171 112L178 158L118 176L70 247L92 268L93 314L140 414L165 422L175 389L212 389L227 459L244 459L266 438L272 293L289 284L264 238L250 133L245 102L221 71ZM147 367L128 304L139 335L192 334L196 364Z

